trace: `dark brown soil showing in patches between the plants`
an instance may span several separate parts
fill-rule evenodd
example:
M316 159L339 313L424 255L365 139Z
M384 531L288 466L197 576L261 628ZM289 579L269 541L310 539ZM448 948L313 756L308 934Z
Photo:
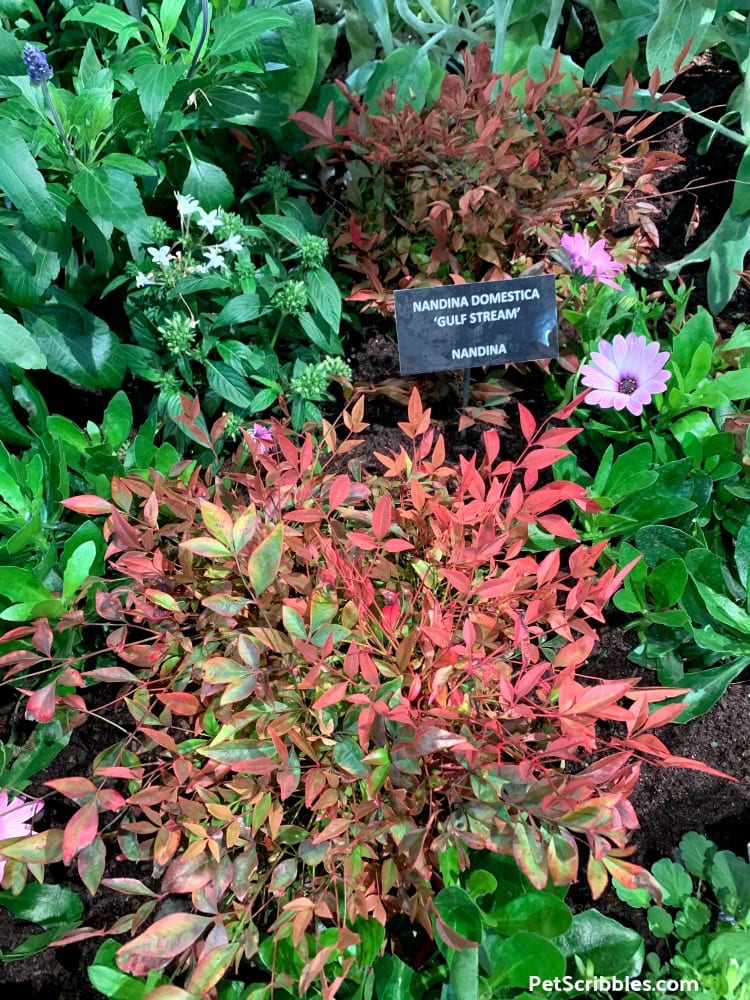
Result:
M736 82L731 67L709 61L686 73L675 89L689 98L693 108L718 118ZM739 146L735 148L730 142L716 140L708 156L699 156L696 147L703 137L702 129L676 117L667 119L665 125L668 131L658 141L665 148L679 152L684 163L661 182L664 195L658 201L662 212L658 219L660 247L652 255L644 279L651 288L660 287L666 264L698 245L718 224L731 198L731 183L740 155ZM691 221L696 220L699 224L692 232L689 227ZM692 305L705 303L705 268L691 268L684 277L696 286ZM727 329L748 318L749 304L750 297L741 287L722 317ZM363 444L346 456L346 462L356 461L373 471L380 468L374 458L375 452L398 450L407 443L396 425L405 419L403 401L414 384L399 378L396 345L389 327L385 321L366 323L362 337L351 349L355 380L372 388L366 408L371 426L361 435ZM545 401L540 391L539 372L528 368L512 374L520 390L518 398L538 417L544 416ZM463 437L457 431L460 379L451 374L426 376L417 380L417 384L423 399L433 408L438 430L445 435L449 457L455 461L458 454L480 447L478 428L471 428ZM394 401L399 392L402 394L400 403ZM513 429L517 423L513 419L514 409L515 403L509 402L509 425L507 429L501 428L506 454L510 455L519 446L517 432ZM627 659L630 649L628 633L617 627L604 629L591 672L603 677L643 674ZM648 678L643 683L648 683ZM672 753L722 769L736 780L728 781L692 770L644 767L633 799L641 822L641 829L634 838L638 861L650 865L661 856L670 856L688 830L706 834L721 848L746 854L750 829L749 699L750 688L734 684L706 716L685 726L668 726L658 734ZM7 710L5 713L0 711L0 739L7 735L7 719ZM87 725L74 734L68 750L42 777L86 773L95 753L113 740L106 727L97 723ZM59 818L64 821L65 817ZM50 815L45 817L47 823L56 819L58 817ZM74 870L68 872L57 866L51 874L56 881L69 881L80 893L86 906L86 925L109 926L118 915L137 905L127 897L108 891L101 891L92 900L81 887ZM117 871L117 874L124 872ZM144 876L140 871L128 874ZM585 891L580 888L573 893L573 898L577 905L589 905ZM614 894L607 894L598 905L604 912L644 930L637 923L636 911L621 904ZM24 928L24 933L19 933L13 920L0 909L0 949L12 947L26 931ZM0 963L0 986L12 991L9 996L24 996L26 1000L100 1000L101 994L89 985L86 974L99 944L100 940L94 939L51 949L22 962Z

